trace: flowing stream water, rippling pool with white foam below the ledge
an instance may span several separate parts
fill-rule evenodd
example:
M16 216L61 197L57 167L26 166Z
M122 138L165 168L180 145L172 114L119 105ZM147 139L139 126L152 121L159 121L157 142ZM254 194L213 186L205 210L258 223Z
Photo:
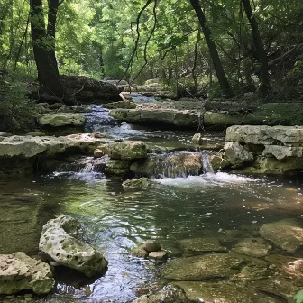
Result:
M99 115L99 114L97 114ZM187 147L193 133L144 130L130 124L101 124L117 138ZM107 127L107 128L106 128ZM207 138L221 137L207 135ZM237 234L249 237L264 223L303 218L301 179L214 174L155 179L148 190L127 191L120 179L106 179L86 158L78 170L61 168L46 176L0 181L0 253L38 252L41 227L60 214L86 226L87 241L102 249L109 262L104 277L73 280L69 275L40 302L131 302L136 289L161 282L161 263L142 260L132 249L157 239L172 256L178 241L189 237ZM83 159L82 159L83 160ZM76 165L77 167L77 165Z

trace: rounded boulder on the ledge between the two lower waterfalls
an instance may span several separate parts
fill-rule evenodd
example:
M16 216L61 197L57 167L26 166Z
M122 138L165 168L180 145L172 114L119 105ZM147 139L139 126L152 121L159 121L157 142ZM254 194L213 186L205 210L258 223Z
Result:
M115 160L142 159L147 156L147 148L141 141L112 142L101 145L98 149Z

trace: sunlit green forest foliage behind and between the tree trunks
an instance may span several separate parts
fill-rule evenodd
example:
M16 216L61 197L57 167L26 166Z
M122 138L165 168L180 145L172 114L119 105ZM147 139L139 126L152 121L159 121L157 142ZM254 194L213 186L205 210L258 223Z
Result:
M0 0L1 69L35 76L29 2L8 2ZM262 82L252 20L268 65L269 96L302 96L303 4L297 0L64 0L56 33L60 73L139 83L160 78L179 96L220 96L216 66L193 3L201 6L236 96L258 91ZM252 8L250 19L245 3ZM46 0L43 8L47 22Z

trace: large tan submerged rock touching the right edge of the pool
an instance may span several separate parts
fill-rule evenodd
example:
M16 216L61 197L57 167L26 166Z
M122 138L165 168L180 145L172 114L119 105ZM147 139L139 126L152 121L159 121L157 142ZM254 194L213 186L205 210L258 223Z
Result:
M289 253L296 253L303 248L303 228L294 220L284 219L264 224L260 228L260 234L262 238Z

